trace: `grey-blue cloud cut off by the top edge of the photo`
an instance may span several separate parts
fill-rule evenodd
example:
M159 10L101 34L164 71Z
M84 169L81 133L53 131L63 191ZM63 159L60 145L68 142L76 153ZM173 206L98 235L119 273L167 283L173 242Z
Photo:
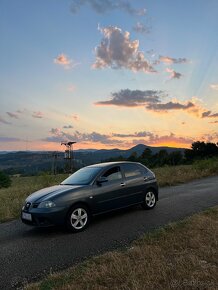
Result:
M146 9L135 9L127 0L73 0L71 4L72 13L77 13L83 5L90 5L91 8L99 13L103 14L113 10L123 10L131 15L143 16L146 13Z

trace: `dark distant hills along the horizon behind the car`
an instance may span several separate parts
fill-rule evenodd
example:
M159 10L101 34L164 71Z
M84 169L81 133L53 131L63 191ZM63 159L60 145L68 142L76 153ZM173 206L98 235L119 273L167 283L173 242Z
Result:
M166 150L168 153L172 151L181 151L183 148L173 147L151 147L143 144L138 144L128 150L121 149L82 149L74 151L74 164L76 168L82 166L103 162L110 158L117 158L122 156L128 158L133 152L140 156L146 149L151 149L155 154L160 150ZM66 160L64 160L63 152L56 152L55 159L54 152L49 151L18 151L18 152L0 152L0 170L6 170L10 174L37 174L42 171L53 171L54 167L58 172L64 170Z

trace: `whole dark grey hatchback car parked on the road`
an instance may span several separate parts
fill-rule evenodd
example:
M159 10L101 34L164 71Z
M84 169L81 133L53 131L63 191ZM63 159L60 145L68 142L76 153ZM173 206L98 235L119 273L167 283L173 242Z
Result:
M21 220L40 227L66 225L79 232L92 216L135 204L152 209L157 200L155 174L141 163L99 163L79 169L60 185L28 196Z

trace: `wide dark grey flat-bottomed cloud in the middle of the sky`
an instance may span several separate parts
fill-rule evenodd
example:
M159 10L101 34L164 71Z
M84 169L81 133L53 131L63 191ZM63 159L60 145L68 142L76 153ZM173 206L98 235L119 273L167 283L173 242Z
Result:
M111 99L108 101L99 101L95 105L114 105L120 107L139 107L145 104L160 102L160 97L164 95L163 91L155 90L120 90L111 94Z

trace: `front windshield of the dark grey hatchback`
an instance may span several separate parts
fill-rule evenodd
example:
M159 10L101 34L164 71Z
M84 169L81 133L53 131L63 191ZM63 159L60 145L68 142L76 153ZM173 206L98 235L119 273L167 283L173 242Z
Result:
M61 185L85 185L89 184L101 170L100 167L84 167L73 173Z

